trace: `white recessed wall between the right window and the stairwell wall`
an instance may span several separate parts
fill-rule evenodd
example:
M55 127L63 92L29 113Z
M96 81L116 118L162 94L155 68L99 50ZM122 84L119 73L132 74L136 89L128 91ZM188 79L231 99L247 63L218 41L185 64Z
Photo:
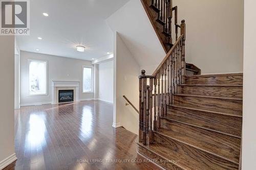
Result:
M99 70L99 100L113 103L114 90L114 61L107 61L98 65Z

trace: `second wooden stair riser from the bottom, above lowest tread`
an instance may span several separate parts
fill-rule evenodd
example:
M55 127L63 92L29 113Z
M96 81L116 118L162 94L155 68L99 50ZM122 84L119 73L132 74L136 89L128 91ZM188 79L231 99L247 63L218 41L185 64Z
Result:
M184 144L184 143L174 140L172 138L166 137L164 135L154 133L153 139L154 139L155 143L163 145L166 148L176 150L180 153L183 153L184 155L189 155L189 157L194 160L193 162L196 162L196 161L202 162L205 164L204 165L205 167L206 166L210 167L210 169L215 169L215 170L238 169L237 164L234 164L230 161L227 161L225 159L222 159L222 158L212 155L210 153L204 152L197 148L193 148L187 144ZM199 160L199 159L201 159L201 160ZM183 157L180 157L180 160L178 160L178 161L181 165L186 164L185 159ZM190 162L190 163L193 163L193 162ZM200 169L200 168L195 167L195 169Z

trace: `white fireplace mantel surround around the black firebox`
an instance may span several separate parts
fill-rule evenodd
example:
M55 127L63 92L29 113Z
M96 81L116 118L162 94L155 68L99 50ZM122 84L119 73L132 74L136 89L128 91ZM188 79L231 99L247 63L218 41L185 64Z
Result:
M74 90L74 102L79 101L79 81L52 81L53 82L53 104L58 103L59 90Z

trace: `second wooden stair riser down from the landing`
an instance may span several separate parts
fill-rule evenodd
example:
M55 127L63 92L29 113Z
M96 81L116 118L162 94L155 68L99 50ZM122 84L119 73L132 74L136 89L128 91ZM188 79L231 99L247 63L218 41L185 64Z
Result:
M220 96L220 97L243 97L243 87L240 86L179 86L179 93Z

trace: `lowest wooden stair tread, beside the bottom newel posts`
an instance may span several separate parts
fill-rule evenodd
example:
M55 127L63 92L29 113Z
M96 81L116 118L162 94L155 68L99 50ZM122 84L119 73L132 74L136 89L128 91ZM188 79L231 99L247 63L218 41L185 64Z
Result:
M201 169L237 169L238 164L220 159L219 162L214 162L212 159L215 159L217 156L209 155L203 151L200 151L196 148L190 147L187 144L173 140L170 145L171 147L164 147L159 143L153 143L150 145L143 145L138 143L141 147L146 148L147 150L161 155L165 160L170 160L169 163L175 164L181 169L189 170L201 170ZM198 156L195 157L195 152L198 153ZM200 155L200 157L199 157ZM217 158L218 159L218 158Z

